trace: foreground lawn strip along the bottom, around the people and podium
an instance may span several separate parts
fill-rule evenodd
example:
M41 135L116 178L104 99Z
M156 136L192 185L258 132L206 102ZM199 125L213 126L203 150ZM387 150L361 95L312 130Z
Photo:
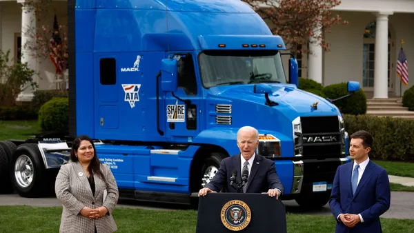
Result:
M61 207L0 206L0 232L59 232ZM195 210L113 212L118 232L195 232ZM288 232L335 232L333 216L286 214ZM414 232L414 220L381 219L384 232Z

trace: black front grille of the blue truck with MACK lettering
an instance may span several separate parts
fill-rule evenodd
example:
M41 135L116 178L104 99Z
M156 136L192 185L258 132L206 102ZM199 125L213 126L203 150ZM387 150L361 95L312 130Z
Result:
M303 156L338 156L342 153L342 134L337 116L301 117Z

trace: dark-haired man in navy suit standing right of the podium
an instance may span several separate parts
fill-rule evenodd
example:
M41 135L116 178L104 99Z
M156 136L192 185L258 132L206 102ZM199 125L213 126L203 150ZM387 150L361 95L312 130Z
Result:
M384 168L368 158L373 136L360 130L351 135L353 163L337 168L329 206L337 219L335 232L382 232L380 215L390 207L391 191Z

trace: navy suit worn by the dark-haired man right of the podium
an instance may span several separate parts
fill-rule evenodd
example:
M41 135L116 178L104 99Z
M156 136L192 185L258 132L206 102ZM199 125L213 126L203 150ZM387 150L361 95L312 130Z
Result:
M391 199L388 174L384 168L369 161L353 195L352 170L353 162L337 168L329 206L336 220L339 214L361 214L364 223L349 228L337 220L335 232L382 232L380 215L389 209Z

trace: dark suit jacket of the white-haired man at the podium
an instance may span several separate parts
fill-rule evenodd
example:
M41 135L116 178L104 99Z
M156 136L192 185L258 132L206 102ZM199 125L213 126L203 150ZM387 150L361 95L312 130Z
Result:
M219 192L221 188L225 187L226 192L237 192L233 186L230 186L230 176L231 172L236 169L236 182L240 183L242 181L240 156L240 154L236 154L223 159L220 163L219 171L215 174L210 183L206 185L206 188ZM277 188L282 193L284 192L283 185L279 180L279 176L277 176L275 162L256 154L251 168L248 176L246 193L268 192L270 188ZM241 190L241 192L243 192L243 190Z

